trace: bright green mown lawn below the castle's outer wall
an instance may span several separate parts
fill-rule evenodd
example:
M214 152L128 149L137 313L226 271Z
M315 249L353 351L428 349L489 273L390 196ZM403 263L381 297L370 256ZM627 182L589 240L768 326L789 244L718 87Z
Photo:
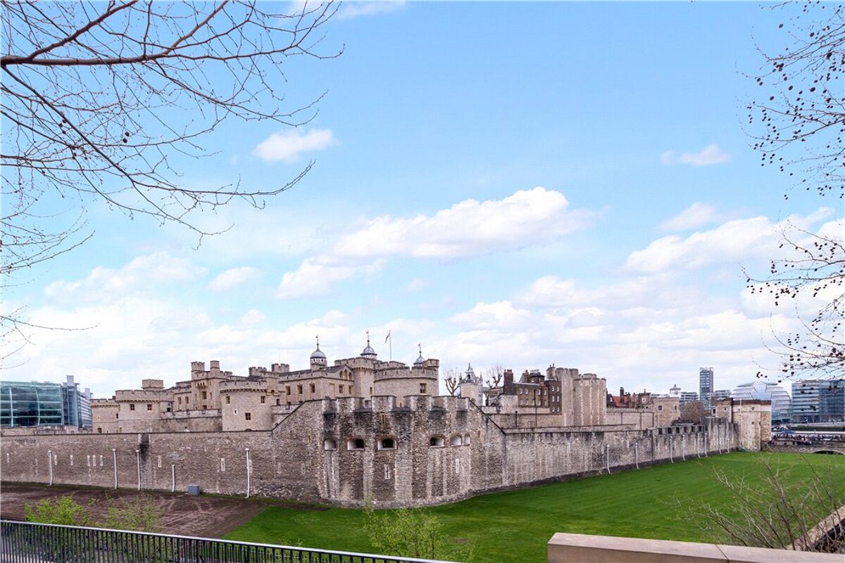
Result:
M457 541L471 541L477 561L545 561L546 542L555 532L711 542L720 538L688 518L704 502L730 506L730 493L717 483L714 471L759 482L763 458L787 469L785 480L794 484L809 473L808 463L819 469L832 463L837 475L833 486L845 501L845 456L736 452L482 495L426 510L436 514ZM676 506L678 501L683 509ZM273 507L226 538L372 552L362 530L363 517L353 509Z

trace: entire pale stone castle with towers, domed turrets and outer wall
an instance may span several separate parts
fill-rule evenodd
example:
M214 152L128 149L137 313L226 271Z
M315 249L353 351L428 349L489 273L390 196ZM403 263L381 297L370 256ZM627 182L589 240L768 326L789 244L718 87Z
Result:
M368 342L328 365L318 342L308 370L192 362L174 387L145 379L93 401L90 433L3 430L0 463L10 481L429 506L768 440L765 402L683 424L678 398L608 409L606 387L550 366L484 389L470 367L460 397L438 396L439 360L380 361Z

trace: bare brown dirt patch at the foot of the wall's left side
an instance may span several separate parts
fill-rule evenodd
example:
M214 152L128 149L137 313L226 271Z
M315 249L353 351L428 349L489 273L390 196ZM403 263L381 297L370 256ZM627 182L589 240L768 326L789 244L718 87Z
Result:
M19 485L4 483L0 487L0 517L23 520L27 503L41 499L71 496L79 504L90 506L95 517L100 517L109 506L110 499L141 496L149 498L161 510L161 532L203 538L221 538L258 515L268 506L284 506L303 510L324 510L321 506L299 505L272 499L237 499L220 496L189 496L158 491L85 489L54 485Z

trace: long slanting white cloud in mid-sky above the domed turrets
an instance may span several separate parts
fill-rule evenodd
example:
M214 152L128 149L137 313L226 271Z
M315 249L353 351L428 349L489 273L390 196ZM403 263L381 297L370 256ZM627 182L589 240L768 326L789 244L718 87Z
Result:
M593 217L586 209L570 209L564 194L544 187L483 202L466 199L432 215L384 215L286 273L278 296L327 295L334 282L372 273L390 257L450 260L547 245L585 229Z

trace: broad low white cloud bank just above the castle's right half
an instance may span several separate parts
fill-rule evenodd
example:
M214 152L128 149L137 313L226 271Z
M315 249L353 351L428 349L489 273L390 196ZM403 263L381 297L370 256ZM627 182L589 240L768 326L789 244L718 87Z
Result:
M554 363L595 372L608 389L667 392L676 382L695 389L701 365L715 367L720 388L752 379L755 360L772 357L764 342L795 326L771 307L746 310L739 288L706 299L680 279L651 282L537 279L515 302L479 302L452 317L461 330L436 348L451 362L472 361L477 371L497 361L517 373Z

